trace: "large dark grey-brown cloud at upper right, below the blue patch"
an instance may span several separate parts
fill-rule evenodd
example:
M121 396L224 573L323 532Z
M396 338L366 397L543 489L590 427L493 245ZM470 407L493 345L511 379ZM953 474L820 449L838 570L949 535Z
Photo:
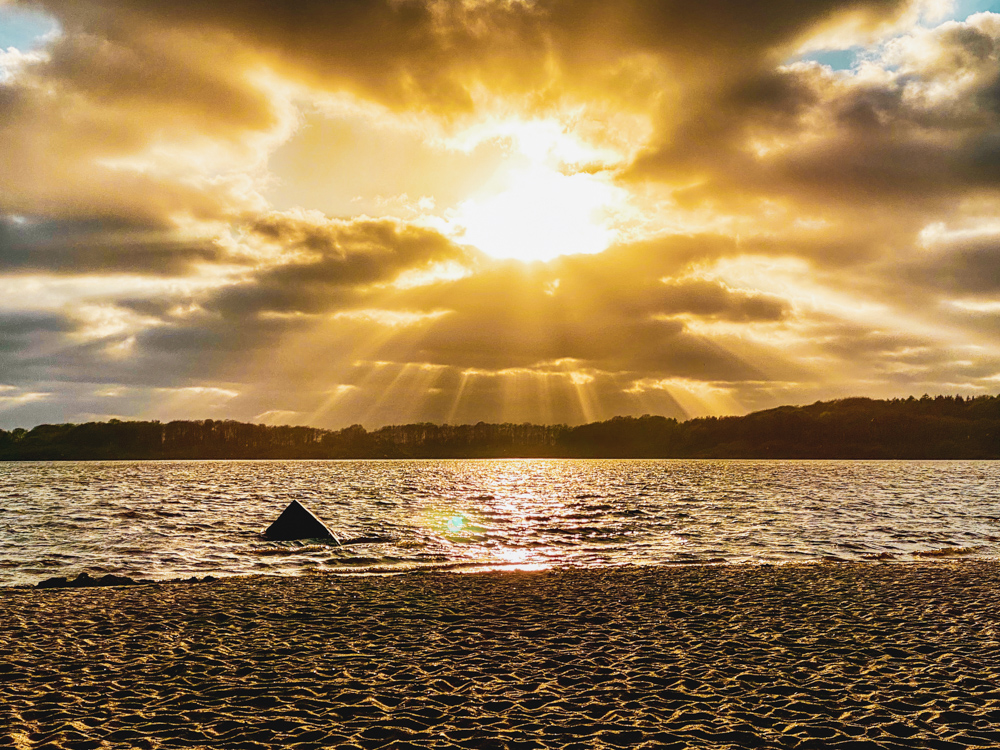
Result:
M846 76L815 64L720 82L636 176L683 183L691 203L784 198L906 215L1000 188L1000 28L950 24L887 52L895 72Z

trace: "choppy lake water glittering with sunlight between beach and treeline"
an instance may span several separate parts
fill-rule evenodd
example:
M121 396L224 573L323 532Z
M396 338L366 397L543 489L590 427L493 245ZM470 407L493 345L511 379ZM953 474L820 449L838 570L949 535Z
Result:
M291 500L341 540L268 542ZM1000 555L1000 462L0 464L0 585Z

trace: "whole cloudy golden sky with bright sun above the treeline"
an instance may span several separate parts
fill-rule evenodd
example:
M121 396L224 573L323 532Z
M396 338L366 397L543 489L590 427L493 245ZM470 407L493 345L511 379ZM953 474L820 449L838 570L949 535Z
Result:
M998 13L0 0L0 427L996 394Z

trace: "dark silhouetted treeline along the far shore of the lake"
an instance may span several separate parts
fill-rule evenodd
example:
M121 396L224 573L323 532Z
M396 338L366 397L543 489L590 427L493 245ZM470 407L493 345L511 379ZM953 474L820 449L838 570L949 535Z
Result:
M0 430L0 460L210 458L1000 458L1000 397L849 398L744 417L566 425L408 424L368 431L197 422Z

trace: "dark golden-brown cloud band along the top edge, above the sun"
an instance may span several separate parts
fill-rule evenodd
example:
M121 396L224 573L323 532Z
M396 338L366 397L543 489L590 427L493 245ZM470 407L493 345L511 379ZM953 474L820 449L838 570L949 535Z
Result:
M579 85L620 63L655 55L688 74L756 67L804 34L850 17L874 27L905 0L42 0L70 33L146 38L151 30L236 39L286 74L390 104L471 105L477 80L544 89L551 64ZM705 63L709 65L706 67ZM117 61L116 61L117 63ZM714 70L713 70L714 68ZM127 72L132 78L142 75Z

